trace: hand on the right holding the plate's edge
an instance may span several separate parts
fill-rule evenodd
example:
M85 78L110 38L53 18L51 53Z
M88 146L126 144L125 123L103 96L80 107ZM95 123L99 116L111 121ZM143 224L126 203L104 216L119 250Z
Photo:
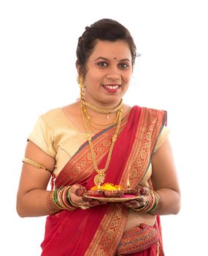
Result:
M123 204L129 208L139 208L145 206L145 204L150 200L150 189L147 187L139 187L138 192L140 193L141 197L126 201Z

